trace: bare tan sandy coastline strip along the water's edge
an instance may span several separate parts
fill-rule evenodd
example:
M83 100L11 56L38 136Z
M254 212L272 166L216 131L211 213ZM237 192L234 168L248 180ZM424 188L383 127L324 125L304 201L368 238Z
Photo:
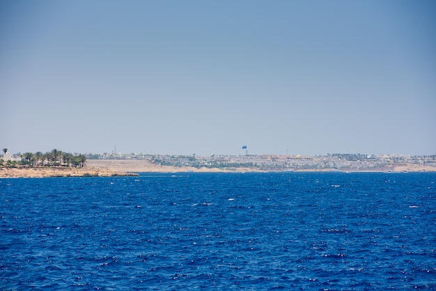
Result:
M293 172L343 172L343 173L414 173L436 172L436 167L420 164L391 164L389 167L372 169L297 169ZM194 168L189 166L160 166L146 160L136 159L90 159L83 168L42 167L0 168L0 178L50 178L50 177L114 177L135 176L138 173L242 173L277 172L258 168ZM286 172L286 171L284 171Z

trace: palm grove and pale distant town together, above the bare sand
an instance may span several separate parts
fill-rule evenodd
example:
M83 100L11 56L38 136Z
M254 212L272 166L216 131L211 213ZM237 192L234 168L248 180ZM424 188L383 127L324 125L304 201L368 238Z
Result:
M73 166L84 166L86 160L91 159L124 159L143 160L156 166L175 166L192 168L255 168L259 171L320 171L323 169L338 171L391 171L394 167L403 167L404 171L420 171L427 169L436 171L436 155L412 156L412 155L366 155L366 154L327 154L316 156L300 155L148 155L141 153L123 154L111 152L103 154L70 154L58 151L47 152L38 158L38 153L29 152L11 155L3 149L4 155L0 158L0 165L11 166L13 164L26 165L31 162L46 164L44 159L65 165L65 162L75 163ZM56 156L59 152L59 157ZM52 154L48 156L49 154ZM54 155L54 158L52 156ZM47 157L45 157L47 155ZM66 155L66 156L65 156ZM52 162L52 164L54 164ZM67 163L68 164L68 163ZM429 168L430 167L430 168Z

